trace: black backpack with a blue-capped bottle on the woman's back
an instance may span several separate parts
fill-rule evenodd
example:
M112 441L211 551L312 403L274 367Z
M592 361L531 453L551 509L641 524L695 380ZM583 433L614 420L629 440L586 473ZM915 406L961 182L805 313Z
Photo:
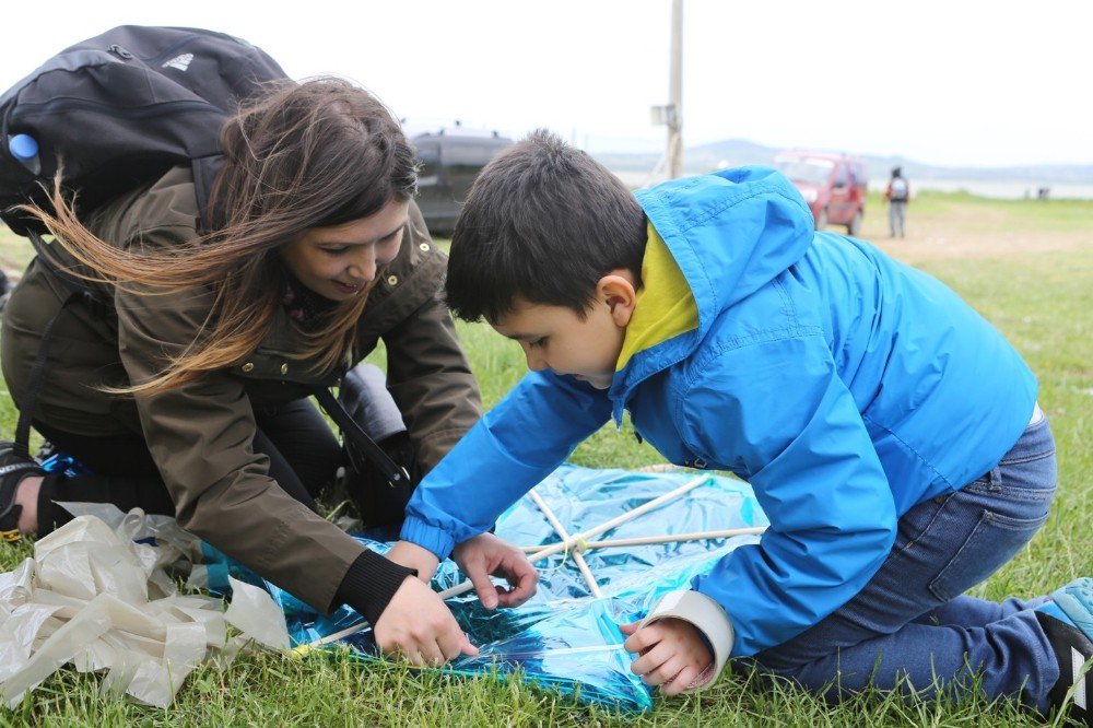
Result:
M10 208L49 210L42 184L51 188L59 163L86 213L189 162L208 227L221 127L263 82L284 79L261 49L199 28L122 25L66 48L0 96L0 218L20 235L44 233Z

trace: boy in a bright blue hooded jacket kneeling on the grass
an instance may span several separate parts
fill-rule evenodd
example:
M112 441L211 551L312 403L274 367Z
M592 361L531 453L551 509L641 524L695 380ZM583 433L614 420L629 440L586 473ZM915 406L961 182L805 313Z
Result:
M961 596L1047 518L1055 448L1033 375L935 279L815 233L774 171L635 199L537 132L475 183L446 285L531 373L422 482L397 560L427 577L455 547L487 608L526 599L533 572L484 531L628 410L672 462L749 481L772 524L624 625L648 684L708 684L731 654L831 696L929 695L978 672L988 695L1045 711L1089 680L1074 670L1093 654L1093 580L1053 601ZM385 613L380 645L449 657L453 637L414 619Z

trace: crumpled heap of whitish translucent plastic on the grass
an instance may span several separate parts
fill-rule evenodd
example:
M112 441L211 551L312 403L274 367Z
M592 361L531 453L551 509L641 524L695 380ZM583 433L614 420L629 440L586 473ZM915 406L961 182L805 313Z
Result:
M163 566L199 553L200 542L173 519L86 509L114 528L80 515L38 541L34 559L0 574L0 695L9 707L69 662L106 671L104 695L164 707L207 659L223 665L255 643L289 647L284 614L258 587L232 579L227 612L220 599L177 594ZM228 639L228 623L243 634Z

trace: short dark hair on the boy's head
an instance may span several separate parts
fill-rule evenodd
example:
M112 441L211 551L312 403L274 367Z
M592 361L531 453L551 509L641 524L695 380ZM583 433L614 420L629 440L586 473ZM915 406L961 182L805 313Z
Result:
M496 321L520 298L584 318L606 273L640 277L646 237L645 213L618 177L533 131L471 188L451 236L448 306L469 321Z

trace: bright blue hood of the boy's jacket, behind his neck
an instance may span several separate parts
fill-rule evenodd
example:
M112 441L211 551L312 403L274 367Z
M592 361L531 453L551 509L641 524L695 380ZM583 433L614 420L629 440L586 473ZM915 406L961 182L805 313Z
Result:
M697 326L638 351L615 374L609 396L616 421L634 387L690 355L720 312L800 260L815 231L800 192L769 167L674 179L635 197L654 228L650 243L655 232L685 279Z

